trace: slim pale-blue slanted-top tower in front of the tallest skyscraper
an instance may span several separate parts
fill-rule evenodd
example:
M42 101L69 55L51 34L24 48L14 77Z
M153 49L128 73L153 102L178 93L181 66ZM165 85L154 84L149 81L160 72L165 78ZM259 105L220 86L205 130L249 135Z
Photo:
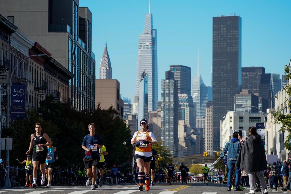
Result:
M139 120L148 120L148 73L143 71L139 82ZM139 129L141 126L139 125Z

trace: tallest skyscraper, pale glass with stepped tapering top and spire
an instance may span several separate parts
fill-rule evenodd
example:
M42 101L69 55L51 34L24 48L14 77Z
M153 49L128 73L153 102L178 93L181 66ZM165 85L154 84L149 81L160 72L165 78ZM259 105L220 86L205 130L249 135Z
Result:
M139 82L143 71L148 72L148 111L157 110L158 100L158 63L157 63L157 30L152 26L152 14L145 15L145 28L139 34L139 47L137 56L136 90L139 95Z

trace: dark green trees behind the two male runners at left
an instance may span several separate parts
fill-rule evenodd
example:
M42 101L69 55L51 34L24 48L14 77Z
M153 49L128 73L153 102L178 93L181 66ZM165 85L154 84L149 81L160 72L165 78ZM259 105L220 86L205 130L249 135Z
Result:
M19 166L16 159L24 160L25 152L29 149L30 135L35 132L35 123L42 123L42 131L53 138L53 145L57 148L59 160L57 165L70 168L83 167L85 151L81 148L84 136L89 134L88 124L95 123L96 134L102 138L108 155L105 155L107 166L123 164L132 154L130 143L131 133L127 124L118 116L115 110L102 110L100 104L95 111L84 110L78 112L70 105L54 102L52 96L47 96L40 102L38 112L27 109L25 119L14 120L11 124L16 134L13 137L13 150L10 151L10 165ZM21 146L19 143L21 142Z

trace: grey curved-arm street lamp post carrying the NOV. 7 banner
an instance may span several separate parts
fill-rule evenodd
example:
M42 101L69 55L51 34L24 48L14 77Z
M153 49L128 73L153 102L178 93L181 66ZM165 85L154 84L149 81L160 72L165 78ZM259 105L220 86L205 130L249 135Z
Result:
M40 54L40 55L30 55L30 56L27 56L25 58L23 58L22 60L20 60L17 65L14 67L14 69L11 71L11 75L10 75L10 79L9 79L9 82L8 82L8 106L7 106L7 117L8 117L8 121L7 121L7 128L10 127L10 94L11 94L11 78L12 78L12 75L14 73L14 70L16 69L16 67L26 58L29 58L29 57L35 57L35 56L45 56L45 54ZM9 138L9 136L7 136L7 138ZM6 150L6 166L9 166L9 150ZM6 179L9 180L9 169L8 169L8 173L7 173L7 177ZM10 184L9 184L10 186Z

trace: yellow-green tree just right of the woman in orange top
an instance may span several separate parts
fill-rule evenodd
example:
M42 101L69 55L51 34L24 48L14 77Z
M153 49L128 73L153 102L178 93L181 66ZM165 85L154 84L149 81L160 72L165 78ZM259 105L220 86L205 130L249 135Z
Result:
M162 145L162 141L158 141L157 145L152 146L152 148L154 148L159 155L159 160L156 160L156 166L166 168L171 160L170 150Z

